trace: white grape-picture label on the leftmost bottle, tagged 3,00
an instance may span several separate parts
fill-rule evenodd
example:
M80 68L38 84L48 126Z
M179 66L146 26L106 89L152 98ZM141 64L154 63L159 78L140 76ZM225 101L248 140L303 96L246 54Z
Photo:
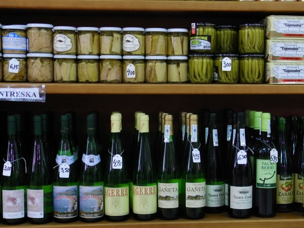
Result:
M2 210L4 219L24 218L24 197L26 186L19 190L2 190Z

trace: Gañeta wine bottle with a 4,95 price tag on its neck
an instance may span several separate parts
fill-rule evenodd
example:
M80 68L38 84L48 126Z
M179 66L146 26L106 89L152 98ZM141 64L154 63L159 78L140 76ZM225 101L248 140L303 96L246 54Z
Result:
M198 115L190 115L186 165L181 176L182 214L186 219L202 219L206 211L206 177L198 129Z

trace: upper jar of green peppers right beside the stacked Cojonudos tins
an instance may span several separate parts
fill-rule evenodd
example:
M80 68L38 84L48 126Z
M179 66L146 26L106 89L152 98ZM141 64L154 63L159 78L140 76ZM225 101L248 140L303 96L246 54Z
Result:
M262 54L264 52L265 26L261 23L240 25L239 53Z

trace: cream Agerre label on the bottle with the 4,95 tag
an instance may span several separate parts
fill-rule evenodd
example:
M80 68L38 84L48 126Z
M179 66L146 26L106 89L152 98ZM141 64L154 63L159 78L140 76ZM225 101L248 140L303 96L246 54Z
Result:
M105 215L129 214L129 183L122 188L105 187Z

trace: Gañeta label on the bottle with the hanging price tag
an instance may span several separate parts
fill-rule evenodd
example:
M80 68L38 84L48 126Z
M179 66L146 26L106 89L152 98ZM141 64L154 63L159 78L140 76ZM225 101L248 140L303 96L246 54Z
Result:
M186 207L198 208L206 206L206 182L186 182Z

